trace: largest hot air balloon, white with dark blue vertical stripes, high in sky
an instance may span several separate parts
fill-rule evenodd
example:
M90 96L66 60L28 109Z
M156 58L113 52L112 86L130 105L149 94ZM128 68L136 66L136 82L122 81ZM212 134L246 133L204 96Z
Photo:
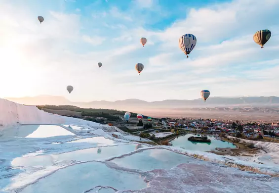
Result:
M197 44L197 38L193 34L185 34L179 38L179 48L188 56L190 52L195 48Z

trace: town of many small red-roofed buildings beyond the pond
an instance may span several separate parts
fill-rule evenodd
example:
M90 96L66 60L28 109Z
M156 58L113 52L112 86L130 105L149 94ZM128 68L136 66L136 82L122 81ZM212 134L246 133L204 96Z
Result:
M216 119L163 119L162 124L166 128L181 128L190 131L242 133L247 137L262 134L270 136L270 132L279 137L279 123L245 122L239 120L216 120ZM240 128L239 128L240 127Z

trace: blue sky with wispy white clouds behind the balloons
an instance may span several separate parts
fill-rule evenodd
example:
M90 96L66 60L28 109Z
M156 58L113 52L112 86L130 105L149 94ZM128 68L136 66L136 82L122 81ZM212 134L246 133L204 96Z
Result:
M278 10L279 0L0 0L0 97L279 96ZM272 32L263 49L261 29ZM184 34L197 37L189 58Z

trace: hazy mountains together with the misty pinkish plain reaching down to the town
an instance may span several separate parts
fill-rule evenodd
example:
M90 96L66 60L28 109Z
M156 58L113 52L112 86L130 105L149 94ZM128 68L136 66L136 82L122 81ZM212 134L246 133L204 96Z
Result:
M139 99L73 102L65 97L47 95L5 99L27 105L74 105L81 108L117 109L153 117L279 121L279 97L209 97L206 102L201 98L153 102Z

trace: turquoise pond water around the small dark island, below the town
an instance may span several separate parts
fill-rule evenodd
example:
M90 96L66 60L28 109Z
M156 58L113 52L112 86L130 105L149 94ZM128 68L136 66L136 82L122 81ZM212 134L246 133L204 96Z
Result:
M199 151L211 151L215 150L216 147L231 147L234 148L236 145L233 145L229 142L222 142L220 140L216 140L214 136L207 135L207 138L211 140L211 143L201 143L201 142L190 142L188 138L191 136L198 136L194 134L186 134L184 136L176 137L174 140L171 141L172 146L179 146L184 149L189 150L199 150Z

